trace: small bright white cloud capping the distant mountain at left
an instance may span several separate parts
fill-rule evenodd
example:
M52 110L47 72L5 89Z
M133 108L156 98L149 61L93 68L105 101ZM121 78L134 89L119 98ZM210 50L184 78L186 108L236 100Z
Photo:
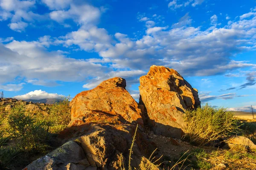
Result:
M57 93L47 93L46 91L35 90L32 92L28 92L25 95L16 95L13 98L16 98L18 100L41 100L41 99L47 99L47 98L55 98L55 99L62 99L64 98L64 95L58 95Z

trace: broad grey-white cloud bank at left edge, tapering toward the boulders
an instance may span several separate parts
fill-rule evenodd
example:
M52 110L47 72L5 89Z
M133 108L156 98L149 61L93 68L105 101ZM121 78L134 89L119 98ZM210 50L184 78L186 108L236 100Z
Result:
M26 78L30 83L52 84L55 81L83 81L87 76L101 75L106 66L77 60L47 52L44 42L12 41L5 46L0 44L0 84L13 81L16 77Z

